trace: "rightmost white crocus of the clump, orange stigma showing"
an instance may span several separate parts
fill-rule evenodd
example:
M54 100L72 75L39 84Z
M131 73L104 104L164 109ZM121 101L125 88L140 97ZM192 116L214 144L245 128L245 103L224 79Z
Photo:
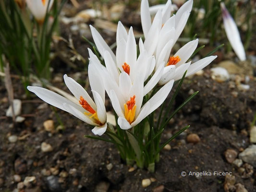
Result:
M187 70L186 76L192 75L195 72L206 67L212 60L217 56L210 56L191 64L190 62L185 63L191 55L194 53L197 47L198 39L188 42L182 48L180 48L173 56L169 59L161 57L160 63L165 63L164 71L158 84L166 84L171 79L174 81L180 80ZM159 66L157 66L159 67Z

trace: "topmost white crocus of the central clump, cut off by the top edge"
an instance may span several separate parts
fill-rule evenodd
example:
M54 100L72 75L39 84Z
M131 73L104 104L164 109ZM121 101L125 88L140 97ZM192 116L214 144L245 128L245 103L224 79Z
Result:
M173 44L177 41L185 27L185 24L187 23L188 17L192 10L192 5L193 0L188 0L183 4L183 6L181 6L176 14L171 17L171 0L168 0L164 8L158 10L153 23L151 23L148 0L142 0L141 24L145 36L144 45L149 54L153 54L156 49L157 52L159 52L159 50L161 50L171 39L172 44L170 47L172 48ZM159 8L162 8L162 6ZM156 57L156 59L158 58Z

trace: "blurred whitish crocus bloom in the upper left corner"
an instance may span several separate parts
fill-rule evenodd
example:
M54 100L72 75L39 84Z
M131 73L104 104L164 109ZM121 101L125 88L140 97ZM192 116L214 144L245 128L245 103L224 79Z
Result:
M48 8L48 10L50 10L53 1L54 0L26 0L26 3L37 22L41 24L44 22L48 4L50 3Z

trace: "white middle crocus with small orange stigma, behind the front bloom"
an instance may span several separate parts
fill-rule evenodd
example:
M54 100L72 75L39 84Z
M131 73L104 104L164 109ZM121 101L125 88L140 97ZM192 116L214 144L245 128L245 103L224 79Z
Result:
M144 81L148 79L148 77L154 71L156 60L155 57L149 55L145 49L140 49L140 55L137 58L137 47L132 27L127 34L122 23L118 23L116 36L116 56L104 41L102 36L100 36L98 31L93 26L90 27L98 51L105 61L106 69L110 76L113 77L113 80L117 85L119 84L119 76L121 72L126 72L132 83L137 75L143 76ZM142 43L141 39L140 42ZM89 50L89 55L90 60L94 60L95 63L100 64L97 57L92 53L91 50ZM144 96L158 83L162 72L163 66L159 67L158 70L156 70L156 72L152 75L150 80L143 88Z

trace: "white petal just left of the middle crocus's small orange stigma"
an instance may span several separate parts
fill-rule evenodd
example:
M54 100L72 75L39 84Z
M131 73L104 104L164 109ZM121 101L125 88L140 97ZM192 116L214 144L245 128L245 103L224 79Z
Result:
M110 72L110 74L113 76L115 81L119 83L119 72L117 69L117 66L115 62L113 61L109 51L104 52L104 60L107 70Z

